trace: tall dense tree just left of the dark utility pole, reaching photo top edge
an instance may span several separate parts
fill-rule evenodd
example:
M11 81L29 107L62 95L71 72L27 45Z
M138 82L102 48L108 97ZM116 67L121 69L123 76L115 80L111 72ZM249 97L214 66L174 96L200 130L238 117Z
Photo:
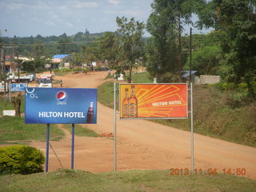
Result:
M173 76L180 81L182 71L182 24L190 22L191 10L186 0L154 0L154 10L147 20L152 35L147 43L147 59L151 76L168 82ZM175 78L176 77L176 78Z

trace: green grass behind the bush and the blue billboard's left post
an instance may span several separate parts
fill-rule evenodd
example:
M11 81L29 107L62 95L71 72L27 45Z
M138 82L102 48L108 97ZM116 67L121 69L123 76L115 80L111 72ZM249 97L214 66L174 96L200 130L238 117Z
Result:
M58 141L64 135L57 125L50 125L50 140ZM25 124L20 117L0 118L0 144L25 144L32 140L46 141L45 124Z

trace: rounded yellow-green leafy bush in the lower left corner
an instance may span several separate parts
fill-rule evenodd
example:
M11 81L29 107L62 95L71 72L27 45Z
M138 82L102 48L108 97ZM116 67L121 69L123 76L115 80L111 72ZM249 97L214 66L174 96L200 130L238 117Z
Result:
M0 174L34 174L43 172L45 158L31 146L4 146L0 148Z

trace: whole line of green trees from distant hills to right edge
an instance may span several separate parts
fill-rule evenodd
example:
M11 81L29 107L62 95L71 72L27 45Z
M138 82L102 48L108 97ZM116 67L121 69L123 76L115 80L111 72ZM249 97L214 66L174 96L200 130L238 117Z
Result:
M70 54L70 61L78 65L85 59L102 60L117 74L126 74L128 82L132 70L141 65L158 82L180 82L182 70L189 69L190 61L189 37L182 34L184 26L198 30L211 27L214 30L210 34L192 36L192 70L221 75L226 82L255 80L256 0L154 0L151 8L146 23L117 17L118 30L114 32L92 35L87 31L48 38L38 35L11 38L9 42L24 41L24 46L18 42L19 49L24 47L20 51L38 53L38 58L40 53ZM198 17L197 22L193 22L193 15ZM142 38L145 30L150 38Z

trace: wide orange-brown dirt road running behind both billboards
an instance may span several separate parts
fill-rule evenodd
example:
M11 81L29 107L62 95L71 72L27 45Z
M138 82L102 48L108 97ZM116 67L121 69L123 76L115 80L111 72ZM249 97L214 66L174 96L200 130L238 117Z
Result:
M96 88L106 72L68 74L61 77L64 87ZM56 77L61 79L60 77ZM90 129L99 134L113 133L114 111L98 103L98 124ZM118 170L191 168L190 132L177 130L144 120L117 120ZM65 168L70 168L71 135L58 142L50 142ZM33 146L46 152L45 142ZM114 141L111 138L75 137L74 168L90 172L114 169ZM50 150L49 170L61 168ZM194 134L194 168L229 169L235 173L244 168L246 177L256 179L256 148ZM238 170L239 174L239 170Z

